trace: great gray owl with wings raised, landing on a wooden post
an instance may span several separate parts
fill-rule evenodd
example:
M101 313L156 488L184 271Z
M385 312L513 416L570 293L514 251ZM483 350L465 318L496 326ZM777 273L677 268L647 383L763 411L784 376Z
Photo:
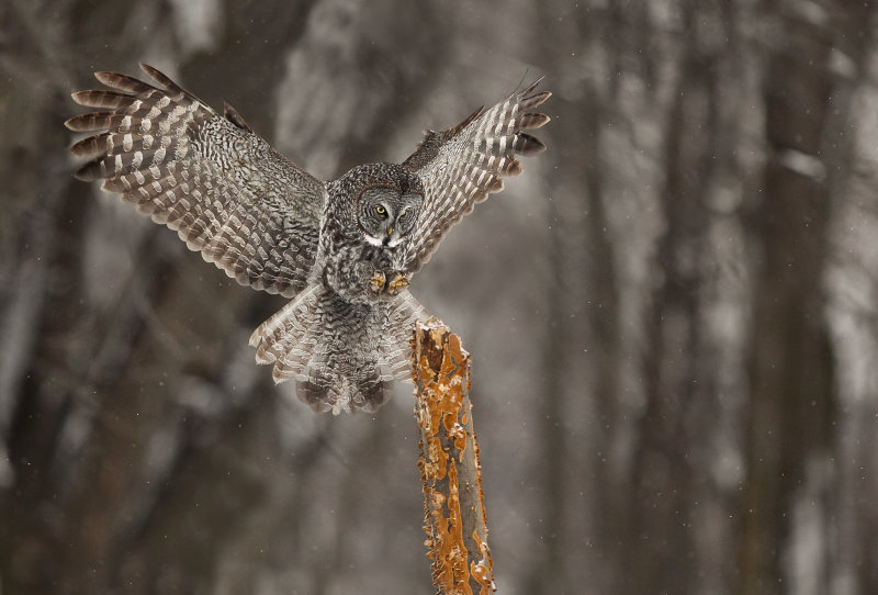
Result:
M140 213L176 229L239 283L292 298L250 338L275 382L294 378L316 411L376 409L409 374L413 323L428 315L406 289L448 228L545 148L524 131L551 93L539 80L461 124L428 132L401 165L358 166L323 182L221 116L155 68L154 80L95 72L112 90L74 100L101 111L66 122L99 132L70 150Z

